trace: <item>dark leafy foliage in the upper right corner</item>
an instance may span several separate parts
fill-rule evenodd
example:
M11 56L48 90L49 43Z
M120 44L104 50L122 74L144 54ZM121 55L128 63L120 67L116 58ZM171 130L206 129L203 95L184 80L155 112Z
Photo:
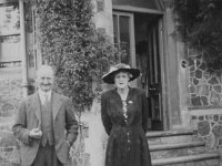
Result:
M222 0L175 0L178 30L190 45L196 45L211 68L222 66Z

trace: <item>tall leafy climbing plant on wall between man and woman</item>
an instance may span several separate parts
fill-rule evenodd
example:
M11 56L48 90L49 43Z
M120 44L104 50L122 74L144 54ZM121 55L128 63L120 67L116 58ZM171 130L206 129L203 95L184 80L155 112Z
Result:
M40 0L37 9L42 55L56 69L57 90L83 111L101 91L117 50L94 28L91 0Z

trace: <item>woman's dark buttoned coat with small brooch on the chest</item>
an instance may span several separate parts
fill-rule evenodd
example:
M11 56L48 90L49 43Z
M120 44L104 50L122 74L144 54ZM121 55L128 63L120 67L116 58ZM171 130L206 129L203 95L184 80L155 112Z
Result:
M145 133L148 131L148 101L145 92L130 87L127 97L128 120L117 90L101 96L101 115L109 135L105 166L151 166Z

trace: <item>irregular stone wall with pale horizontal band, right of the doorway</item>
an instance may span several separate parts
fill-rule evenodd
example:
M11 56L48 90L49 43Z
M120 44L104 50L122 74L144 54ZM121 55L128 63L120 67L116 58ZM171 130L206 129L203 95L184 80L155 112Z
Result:
M222 72L208 68L209 54L189 48L189 110L196 139L210 151L222 148Z

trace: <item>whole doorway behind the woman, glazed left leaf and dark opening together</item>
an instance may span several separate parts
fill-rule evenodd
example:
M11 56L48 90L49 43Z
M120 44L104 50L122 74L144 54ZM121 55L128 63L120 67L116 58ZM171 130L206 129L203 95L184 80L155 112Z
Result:
M141 70L135 84L144 89L149 102L149 129L162 131L162 79L161 54L163 53L162 15L113 11L114 43L124 50L119 62Z

